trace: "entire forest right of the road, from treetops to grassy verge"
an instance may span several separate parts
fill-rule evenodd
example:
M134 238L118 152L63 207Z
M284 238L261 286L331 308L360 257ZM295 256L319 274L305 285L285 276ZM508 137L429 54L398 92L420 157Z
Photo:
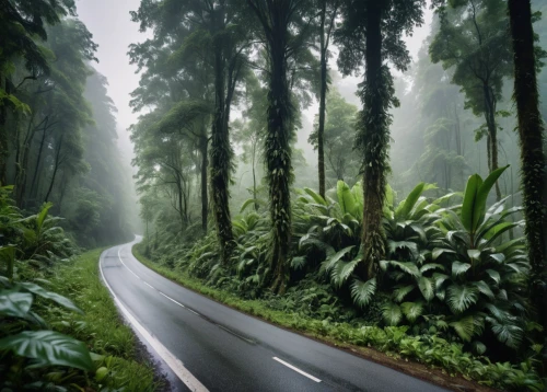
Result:
M131 14L137 254L281 325L544 390L545 0L433 1L415 64L426 1L177 4Z

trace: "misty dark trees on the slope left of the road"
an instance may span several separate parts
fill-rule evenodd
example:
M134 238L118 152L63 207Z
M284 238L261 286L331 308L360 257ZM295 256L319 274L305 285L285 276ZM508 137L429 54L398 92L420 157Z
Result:
M0 182L19 208L51 212L80 245L126 240L131 186L116 107L91 66L97 45L72 1L0 9Z

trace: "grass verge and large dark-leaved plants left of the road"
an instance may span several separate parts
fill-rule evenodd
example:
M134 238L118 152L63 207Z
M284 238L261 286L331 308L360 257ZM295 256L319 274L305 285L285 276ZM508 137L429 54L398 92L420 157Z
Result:
M153 368L98 276L46 204L23 216L0 188L0 389L154 391Z

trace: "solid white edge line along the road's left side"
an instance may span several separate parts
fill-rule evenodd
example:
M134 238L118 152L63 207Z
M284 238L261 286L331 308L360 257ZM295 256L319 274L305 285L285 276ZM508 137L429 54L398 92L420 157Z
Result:
M119 251L118 251L118 257L119 257ZM119 257L119 260L121 261L121 257ZM188 389L190 391L193 391L193 392L209 392L209 390L201 382L199 382L199 380L196 379L194 377L194 374L188 371L188 369L186 369L184 367L183 362L177 357L175 357L164 345L162 345L160 343L160 341L158 341L152 334L150 334L137 321L137 319L135 319L135 316L131 313L129 313L127 308L124 307L121 301L114 293L114 290L112 289L110 285L108 285L108 281L106 281L106 278L105 278L104 273L103 273L103 266L102 266L101 262L102 262L102 260L100 258L98 269L101 270L101 276L103 277L103 281L105 283L106 287L110 291L112 296L114 297L114 300L116 301L116 304L119 307L119 309L121 310L121 312L124 313L126 319L135 326L135 328L137 331L139 331L139 333L147 339L147 342L158 353L158 355L165 361L165 364L167 364L167 366L175 372L175 374L181 379L181 381L183 381L184 384L186 387L188 387ZM121 262L121 263L124 263L124 262ZM136 275L136 274L133 273L133 275Z

